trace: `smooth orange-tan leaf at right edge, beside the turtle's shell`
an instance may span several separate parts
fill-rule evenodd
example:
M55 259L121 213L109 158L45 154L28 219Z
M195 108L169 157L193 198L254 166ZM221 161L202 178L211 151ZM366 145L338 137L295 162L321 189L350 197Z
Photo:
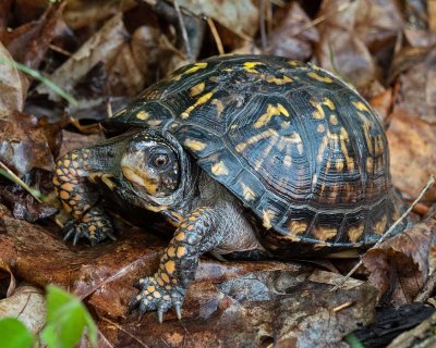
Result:
M436 127L408 113L395 112L387 133L393 185L408 199L416 197L429 175L436 174ZM436 200L433 186L424 198Z

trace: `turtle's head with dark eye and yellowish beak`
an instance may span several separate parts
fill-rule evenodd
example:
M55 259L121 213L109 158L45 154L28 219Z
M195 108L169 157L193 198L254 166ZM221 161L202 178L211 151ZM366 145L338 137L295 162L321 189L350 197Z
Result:
M146 196L162 198L180 185L179 151L157 133L143 132L133 137L121 159L123 176Z

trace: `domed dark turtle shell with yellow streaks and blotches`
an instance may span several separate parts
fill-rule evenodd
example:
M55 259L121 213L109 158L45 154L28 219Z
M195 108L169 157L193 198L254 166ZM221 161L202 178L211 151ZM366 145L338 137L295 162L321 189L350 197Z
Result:
M230 55L184 66L104 123L131 126L173 134L262 220L272 250L371 246L399 217L376 113L312 64Z

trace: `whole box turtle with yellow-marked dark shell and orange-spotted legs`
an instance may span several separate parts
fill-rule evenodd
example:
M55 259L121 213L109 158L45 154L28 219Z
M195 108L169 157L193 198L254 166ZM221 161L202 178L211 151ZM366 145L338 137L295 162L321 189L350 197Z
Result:
M105 120L108 138L56 162L64 238L114 238L98 185L175 226L130 309L181 318L198 258L365 250L404 207L376 112L348 83L274 55L183 66ZM400 223L395 235L405 227Z

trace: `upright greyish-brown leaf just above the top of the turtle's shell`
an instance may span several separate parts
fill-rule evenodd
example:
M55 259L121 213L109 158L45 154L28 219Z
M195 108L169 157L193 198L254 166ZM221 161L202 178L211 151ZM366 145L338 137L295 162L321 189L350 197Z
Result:
M284 20L270 34L270 41L268 42L270 53L298 60L308 59L312 55L313 44L319 40L318 30L315 26L300 33L300 29L310 22L311 18L299 3L292 2L288 7Z

